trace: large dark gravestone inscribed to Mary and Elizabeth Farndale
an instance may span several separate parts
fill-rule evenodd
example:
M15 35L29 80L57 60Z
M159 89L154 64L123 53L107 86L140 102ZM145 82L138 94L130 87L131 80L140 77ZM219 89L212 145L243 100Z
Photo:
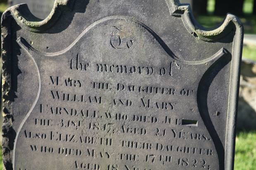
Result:
M177 0L2 16L7 170L231 170L243 29Z

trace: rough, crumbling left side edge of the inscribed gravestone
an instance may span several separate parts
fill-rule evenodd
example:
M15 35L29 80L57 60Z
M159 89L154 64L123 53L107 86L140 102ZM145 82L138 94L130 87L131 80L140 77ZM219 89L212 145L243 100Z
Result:
M15 133L12 129L12 105L11 105L11 68L12 68L12 47L11 44L11 23L13 21L10 10L2 14L1 38L2 38L2 155L4 170L12 170L12 150Z

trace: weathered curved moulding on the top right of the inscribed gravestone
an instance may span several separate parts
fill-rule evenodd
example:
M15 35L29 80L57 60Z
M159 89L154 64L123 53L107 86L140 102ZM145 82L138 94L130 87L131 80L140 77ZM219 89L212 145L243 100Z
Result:
M225 37L232 30L243 29L241 21L233 14L227 14L223 23L217 28L205 28L201 26L193 16L189 4L181 4L179 0L166 0L172 16L182 17L184 26L188 32L203 41L216 41Z

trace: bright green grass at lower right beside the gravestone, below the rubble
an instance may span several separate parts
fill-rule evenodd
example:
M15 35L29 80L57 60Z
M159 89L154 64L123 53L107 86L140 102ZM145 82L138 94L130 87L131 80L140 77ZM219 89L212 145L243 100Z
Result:
M235 170L256 169L256 132L240 132L236 138Z

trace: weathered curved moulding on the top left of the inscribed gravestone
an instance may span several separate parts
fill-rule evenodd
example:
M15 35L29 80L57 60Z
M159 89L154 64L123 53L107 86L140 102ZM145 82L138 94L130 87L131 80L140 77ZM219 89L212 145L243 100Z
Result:
M14 5L8 8L7 11L11 12L14 20L22 28L33 32L41 32L53 26L62 14L62 11L71 10L74 1L75 0L55 0L52 11L43 20L33 16L26 4ZM28 11L29 14L23 15L22 12L24 11Z

